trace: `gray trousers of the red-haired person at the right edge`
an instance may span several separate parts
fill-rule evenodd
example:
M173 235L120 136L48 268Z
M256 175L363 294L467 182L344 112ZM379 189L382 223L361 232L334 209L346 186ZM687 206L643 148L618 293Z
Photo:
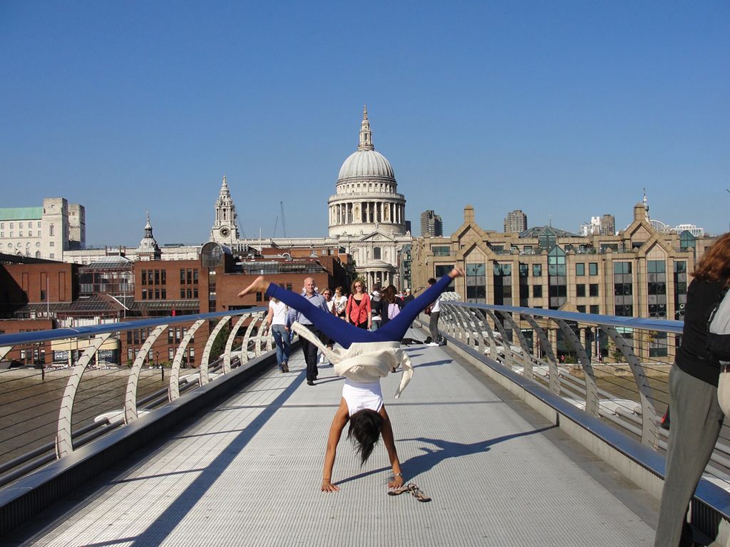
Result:
M672 365L669 444L655 547L691 547L687 509L723 424L718 389Z

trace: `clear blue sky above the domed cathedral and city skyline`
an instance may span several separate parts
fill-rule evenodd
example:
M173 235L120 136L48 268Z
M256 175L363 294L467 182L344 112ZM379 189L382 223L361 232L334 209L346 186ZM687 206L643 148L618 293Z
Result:
M730 3L0 2L0 206L82 203L87 243L327 232L368 104L407 218L575 231L730 221Z

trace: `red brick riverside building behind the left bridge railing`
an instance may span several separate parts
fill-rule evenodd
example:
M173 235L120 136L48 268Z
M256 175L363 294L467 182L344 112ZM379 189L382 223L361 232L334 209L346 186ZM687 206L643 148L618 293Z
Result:
M6 260L2 260L3 256ZM320 288L347 287L347 255L292 257L252 255L234 257L220 244L203 246L196 260L109 260L77 265L0 255L0 331L20 333L51 327L96 325L146 317L205 314L268 306L261 293L238 298L243 287L265 274L290 290L303 287L312 276ZM344 260L343 260L344 259ZM192 320L191 320L192 324ZM196 365L212 326L201 325L188 346L184 362ZM169 327L149 350L150 364L172 361L189 325ZM134 360L150 328L112 336L99 360L126 364ZM83 348L82 348L83 349ZM68 341L53 341L36 352L34 362L75 362L79 350ZM9 360L28 362L27 349L14 349ZM30 364L30 362L28 362Z

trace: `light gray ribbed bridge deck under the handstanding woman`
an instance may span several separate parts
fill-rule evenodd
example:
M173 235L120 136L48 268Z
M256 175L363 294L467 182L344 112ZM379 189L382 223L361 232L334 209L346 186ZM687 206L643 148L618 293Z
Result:
M433 501L386 495L377 446L364 467L340 441L320 492L342 379L275 366L189 427L40 513L4 545L648 546L658 502L447 348L407 349L415 374L383 380L407 481Z

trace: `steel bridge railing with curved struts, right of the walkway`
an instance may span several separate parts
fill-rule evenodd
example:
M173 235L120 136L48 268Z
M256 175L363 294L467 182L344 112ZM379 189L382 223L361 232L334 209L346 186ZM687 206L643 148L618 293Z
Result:
M442 300L441 310L439 326L456 340L642 444L666 450L669 431L661 422L682 322L454 300ZM705 476L730 489L727 425Z

